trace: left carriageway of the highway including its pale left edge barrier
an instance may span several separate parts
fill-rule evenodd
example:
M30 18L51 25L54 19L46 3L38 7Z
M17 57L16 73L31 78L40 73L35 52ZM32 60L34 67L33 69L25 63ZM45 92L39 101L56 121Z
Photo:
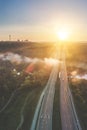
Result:
M54 57L58 56L59 51L56 54L54 53ZM38 101L30 130L52 130L53 101L59 68L58 65L58 62L53 65L48 82Z

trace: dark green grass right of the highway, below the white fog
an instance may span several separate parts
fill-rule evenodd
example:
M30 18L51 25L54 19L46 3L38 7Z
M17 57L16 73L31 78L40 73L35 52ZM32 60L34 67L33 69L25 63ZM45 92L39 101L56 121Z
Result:
M87 81L70 82L77 115L83 130L87 130Z

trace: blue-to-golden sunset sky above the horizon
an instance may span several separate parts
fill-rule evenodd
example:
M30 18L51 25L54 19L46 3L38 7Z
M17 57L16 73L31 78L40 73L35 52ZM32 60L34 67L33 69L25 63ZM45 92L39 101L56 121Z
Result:
M0 40L87 41L87 0L0 0Z

